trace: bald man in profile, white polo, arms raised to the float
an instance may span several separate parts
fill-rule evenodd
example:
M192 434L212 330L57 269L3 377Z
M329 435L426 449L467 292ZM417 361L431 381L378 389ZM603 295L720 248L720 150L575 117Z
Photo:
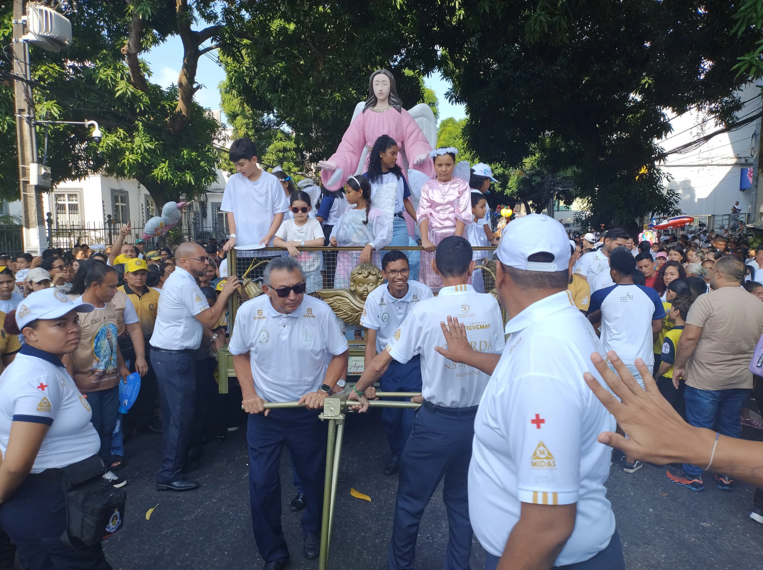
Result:
M209 259L201 245L185 242L175 250L175 271L167 277L159 297L153 335L151 363L159 386L162 406L162 451L164 458L156 476L160 490L188 491L198 483L183 479L185 456L191 438L196 396L194 351L204 335L212 336L227 307L227 299L239 286L230 277L210 307L196 284L206 274Z

